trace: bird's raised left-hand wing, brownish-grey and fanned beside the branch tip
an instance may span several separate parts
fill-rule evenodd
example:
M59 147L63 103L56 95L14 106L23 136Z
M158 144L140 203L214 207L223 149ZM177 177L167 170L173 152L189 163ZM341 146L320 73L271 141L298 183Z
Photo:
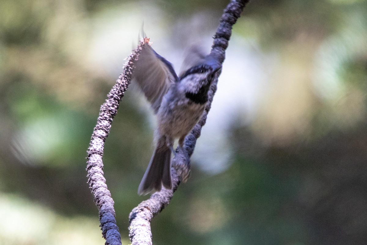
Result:
M157 54L148 43L142 46L132 77L152 104L155 113L171 84L178 80L172 64Z

